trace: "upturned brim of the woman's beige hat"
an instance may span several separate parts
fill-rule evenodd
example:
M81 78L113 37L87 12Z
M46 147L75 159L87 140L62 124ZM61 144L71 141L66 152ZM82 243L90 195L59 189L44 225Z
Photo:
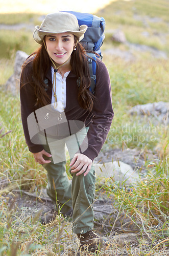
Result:
M60 33L70 33L70 34L73 34L75 36L77 36L78 40L81 41L84 37L84 33L86 32L87 30L87 26L86 25L81 25L79 27L79 31L61 31L61 32L55 32L55 31L43 31L43 30L40 30L39 29L39 26L36 26L35 27L35 30L34 30L34 33L33 33L33 38L35 39L35 41L42 45L42 40L44 38L45 35L50 35L50 34L60 34Z

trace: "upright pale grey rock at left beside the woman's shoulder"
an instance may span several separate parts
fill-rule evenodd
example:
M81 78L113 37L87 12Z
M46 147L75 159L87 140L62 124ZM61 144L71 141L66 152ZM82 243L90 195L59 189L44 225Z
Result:
M17 95L19 91L19 80L20 80L20 72L21 66L23 62L28 57L28 54L22 51L16 52L15 63L14 63L14 73L5 84L5 88L7 91L10 91L13 95Z

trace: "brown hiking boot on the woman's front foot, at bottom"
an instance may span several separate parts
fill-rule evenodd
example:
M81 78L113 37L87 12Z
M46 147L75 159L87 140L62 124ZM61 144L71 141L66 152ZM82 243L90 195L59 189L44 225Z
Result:
M106 242L105 239L102 239L99 237L96 233L94 233L92 230L89 230L86 233L79 233L77 234L79 240L80 240L80 248L81 250L88 250L88 252L94 252L98 250L99 244L102 242Z

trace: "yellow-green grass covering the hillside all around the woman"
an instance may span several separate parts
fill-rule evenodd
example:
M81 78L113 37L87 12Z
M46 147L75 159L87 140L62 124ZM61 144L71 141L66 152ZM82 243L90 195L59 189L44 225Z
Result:
M110 30L120 28L129 42L155 47L168 53L168 7L167 0L111 3L96 13L105 17L106 28L109 30L106 32L102 49L116 47L128 50L127 45L115 44L110 40ZM138 19L135 19L134 15ZM40 22L37 17L37 14L0 14L0 24L38 25ZM152 22L151 18L159 19ZM146 23L142 22L143 19ZM144 31L149 33L148 37L143 35ZM19 209L15 204L13 189L20 190L18 196L21 197L22 190L39 194L46 186L45 170L35 163L26 146L20 118L19 95L14 97L5 91L4 86L13 73L16 51L22 50L30 54L37 48L37 44L32 38L32 32L24 30L1 30L0 42L0 254L72 255L69 251L76 251L78 242L76 235L71 231L72 223L69 220L60 215L50 225L42 226L38 221L39 212L33 218L26 207ZM106 247L107 252L84 255L112 255L113 250L122 248L128 250L130 256L138 255L138 251L141 256L168 255L168 126L158 122L154 124L146 115L131 116L129 111L137 104L168 101L169 61L154 58L150 53L135 53L135 56L136 60L126 62L104 54L103 60L111 78L115 112L104 150L136 147L140 152L144 152L146 164L142 172L140 171L141 179L134 186L123 184L123 188L119 187L113 177L103 186L101 180L97 180L97 197L106 195L113 200L118 214L116 219L113 219L112 215L105 219L105 224L111 227L111 231L104 233L111 241ZM156 157L150 159L149 150L156 154ZM140 236L138 245L122 245L114 237L111 238L120 216L131 220L121 227L124 232L132 232L132 225L137 228L137 234ZM132 252L132 249L135 250Z

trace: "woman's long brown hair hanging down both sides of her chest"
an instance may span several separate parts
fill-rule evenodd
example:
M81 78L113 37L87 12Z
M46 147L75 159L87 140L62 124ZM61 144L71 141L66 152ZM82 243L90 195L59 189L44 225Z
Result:
M75 43L77 43L77 37L74 36ZM50 104L50 97L47 95L45 88L45 75L51 67L51 60L48 53L45 50L44 44L34 52L29 59L24 63L23 70L27 67L28 63L32 62L32 82L29 80L23 86L26 86L27 83L32 83L32 86L35 90L35 95L37 98L36 106L40 108L46 104ZM76 51L73 51L70 59L71 70L79 78L79 91L78 91L78 102L81 108L92 110L93 107L93 98L94 96L89 91L90 87L90 74L88 68L87 56L84 51L84 48L78 42L76 46ZM78 86L78 84L77 84Z

